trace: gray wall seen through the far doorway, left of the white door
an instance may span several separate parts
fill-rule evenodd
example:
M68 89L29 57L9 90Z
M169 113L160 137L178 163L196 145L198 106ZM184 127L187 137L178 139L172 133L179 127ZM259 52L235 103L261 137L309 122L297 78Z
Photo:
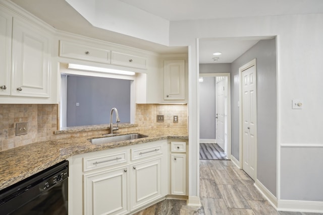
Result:
M216 77L200 82L200 139L216 139Z

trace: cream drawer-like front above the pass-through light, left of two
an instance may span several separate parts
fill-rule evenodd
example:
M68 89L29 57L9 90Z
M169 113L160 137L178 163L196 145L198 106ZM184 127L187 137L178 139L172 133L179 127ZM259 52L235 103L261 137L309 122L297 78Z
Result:
M110 50L60 41L60 57L110 63Z

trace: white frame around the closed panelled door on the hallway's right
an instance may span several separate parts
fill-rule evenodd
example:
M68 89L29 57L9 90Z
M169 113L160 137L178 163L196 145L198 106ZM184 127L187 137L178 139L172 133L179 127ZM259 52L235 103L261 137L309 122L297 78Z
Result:
M256 64L256 58L253 60L247 62L246 64L239 67L239 167L240 169L243 169L243 141L242 141L242 135L243 135L243 121L242 121L242 71L250 68L251 66L255 66L256 68L256 74L257 74L257 64ZM256 82L256 93L257 93L257 80ZM257 110L257 103L256 103L256 110ZM258 112L258 110L257 110ZM257 114L256 114L256 120L257 122ZM257 180L257 126L255 126L255 178L254 180Z

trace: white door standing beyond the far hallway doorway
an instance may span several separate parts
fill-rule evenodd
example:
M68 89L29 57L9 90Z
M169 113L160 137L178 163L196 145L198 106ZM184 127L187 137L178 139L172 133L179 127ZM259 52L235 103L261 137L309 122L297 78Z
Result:
M216 83L216 134L217 144L227 153L225 144L226 133L226 78L217 77Z

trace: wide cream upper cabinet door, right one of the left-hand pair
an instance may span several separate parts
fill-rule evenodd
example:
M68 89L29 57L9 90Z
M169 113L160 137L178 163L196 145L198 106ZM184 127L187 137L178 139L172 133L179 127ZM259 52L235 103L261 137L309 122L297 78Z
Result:
M28 21L13 20L11 95L49 97L50 38Z

